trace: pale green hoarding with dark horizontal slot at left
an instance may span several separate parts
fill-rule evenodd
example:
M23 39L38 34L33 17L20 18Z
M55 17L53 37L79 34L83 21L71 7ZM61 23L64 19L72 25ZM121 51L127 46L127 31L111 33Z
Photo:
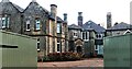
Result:
M2 67L36 67L36 39L0 31L0 64Z

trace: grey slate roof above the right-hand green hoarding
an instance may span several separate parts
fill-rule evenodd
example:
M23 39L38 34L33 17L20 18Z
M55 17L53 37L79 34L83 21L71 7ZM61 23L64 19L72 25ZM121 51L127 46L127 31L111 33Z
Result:
M132 28L131 26L132 25L130 25L130 24L121 22L121 23L119 23L119 24L117 24L108 30L127 30L127 28Z

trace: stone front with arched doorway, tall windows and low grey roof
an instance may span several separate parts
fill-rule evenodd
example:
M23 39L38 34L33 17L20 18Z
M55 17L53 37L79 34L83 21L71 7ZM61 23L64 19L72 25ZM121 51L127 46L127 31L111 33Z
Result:
M68 26L69 51L81 53L84 56L94 56L95 53L95 30L84 30L72 24Z

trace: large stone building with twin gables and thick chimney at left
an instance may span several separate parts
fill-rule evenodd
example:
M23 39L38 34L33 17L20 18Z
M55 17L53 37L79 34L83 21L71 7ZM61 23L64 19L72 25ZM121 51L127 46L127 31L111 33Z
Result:
M56 4L51 4L51 11L47 11L32 0L23 10L9 0L2 0L0 9L0 30L36 37L38 57L67 51L67 15L64 14L65 20L57 16Z

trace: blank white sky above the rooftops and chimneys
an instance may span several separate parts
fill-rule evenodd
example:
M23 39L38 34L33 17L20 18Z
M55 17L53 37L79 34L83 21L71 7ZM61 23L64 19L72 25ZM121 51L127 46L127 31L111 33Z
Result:
M0 0L1 1L1 0ZM25 9L32 0L10 0ZM77 24L78 12L82 12L84 23L91 20L106 27L107 13L112 14L112 24L125 22L130 24L130 2L132 0L36 0L46 10L50 4L57 5L57 15L62 19L67 13L68 25Z

